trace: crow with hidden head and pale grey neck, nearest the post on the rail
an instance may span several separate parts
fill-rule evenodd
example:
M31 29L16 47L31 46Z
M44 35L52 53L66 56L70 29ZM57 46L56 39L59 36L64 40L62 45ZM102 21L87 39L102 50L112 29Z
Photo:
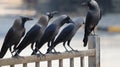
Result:
M81 17L77 17L73 19L74 23L69 23L57 36L57 38L54 40L54 42L51 44L51 46L48 48L47 53L51 52L51 50L59 43L63 42L63 46L68 51L68 49L65 47L65 43L67 42L67 45L74 50L70 46L70 42L73 38L73 36L76 34L78 29L83 25L84 19Z

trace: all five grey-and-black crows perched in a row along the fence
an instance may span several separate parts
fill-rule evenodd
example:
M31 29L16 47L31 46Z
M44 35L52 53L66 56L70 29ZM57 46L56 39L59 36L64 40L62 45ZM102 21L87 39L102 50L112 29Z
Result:
M33 50L32 55L36 55L37 53L43 55L39 49L45 43L48 43L48 49L46 53L52 53L52 50L56 52L55 46L62 42L66 51L68 51L68 49L65 47L66 42L67 45L72 50L74 50L70 46L70 42L77 30L84 24L85 31L83 42L85 47L87 45L88 36L92 31L94 31L94 28L101 19L101 11L99 5L95 0L89 0L88 2L82 3L82 5L86 5L89 8L85 22L84 19L81 17L72 20L67 15L60 15L59 17L54 19L50 25L48 25L49 20L52 19L53 16L57 13L56 11L53 11L47 13L47 15L42 15L39 18L38 22L26 33L25 36L25 22L32 19L29 17L20 16L14 21L13 26L9 29L5 36L0 51L0 58L4 57L8 49L10 50L12 56L19 56L21 51L30 44L31 49ZM64 27L64 29L58 34L59 29L65 23L68 23L68 25ZM23 39L21 40L21 38ZM14 46L13 51L12 46ZM14 52L15 54L13 55Z

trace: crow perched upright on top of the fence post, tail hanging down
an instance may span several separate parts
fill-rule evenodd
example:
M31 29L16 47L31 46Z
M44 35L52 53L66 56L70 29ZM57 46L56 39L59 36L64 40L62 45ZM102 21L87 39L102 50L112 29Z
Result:
M84 38L83 38L84 47L85 47L87 45L88 36L90 35L92 31L94 32L96 25L101 19L101 10L95 0L90 0L84 5L87 5L89 8L87 16L86 16L85 31L84 31L85 33L84 33Z

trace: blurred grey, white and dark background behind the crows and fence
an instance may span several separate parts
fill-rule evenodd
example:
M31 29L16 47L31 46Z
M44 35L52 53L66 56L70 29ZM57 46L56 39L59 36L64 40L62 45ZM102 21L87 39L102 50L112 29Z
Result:
M103 14L96 32L101 38L101 67L120 67L120 0L96 1ZM0 48L8 29L17 16L34 18L33 21L25 24L28 31L41 14L49 11L56 10L59 12L58 15L67 14L72 18L79 16L85 18L87 7L81 6L80 2L81 0L0 0ZM71 42L72 47L78 50L87 49L87 47L83 47L83 34L84 29L80 28ZM43 48L41 50L44 52L47 46L43 46ZM63 49L60 45L56 48ZM29 47L21 53L21 55L30 54ZM5 57L11 57L9 51Z

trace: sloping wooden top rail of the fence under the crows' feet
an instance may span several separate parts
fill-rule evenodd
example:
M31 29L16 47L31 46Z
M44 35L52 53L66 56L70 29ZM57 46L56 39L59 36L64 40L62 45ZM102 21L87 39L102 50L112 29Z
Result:
M33 55L33 56L26 56L26 57L19 57L19 58L5 58L5 59L0 59L0 66L48 61L48 60L57 60L57 59L65 59L65 58L73 58L73 57L94 56L94 55L95 55L95 49L89 49L89 50L83 50L79 52L46 54L45 56L40 56L40 57Z

